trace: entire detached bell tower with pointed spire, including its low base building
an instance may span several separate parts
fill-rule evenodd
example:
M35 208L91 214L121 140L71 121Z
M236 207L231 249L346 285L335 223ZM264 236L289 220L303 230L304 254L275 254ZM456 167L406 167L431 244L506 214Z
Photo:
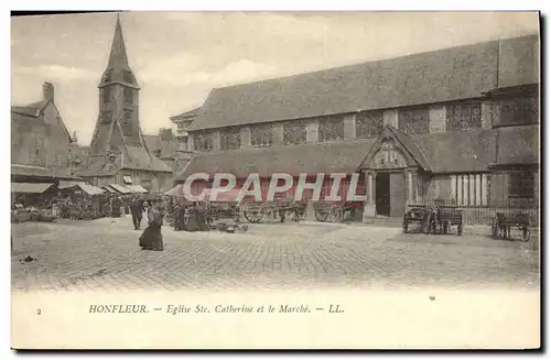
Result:
M119 18L98 89L99 114L79 175L96 186L134 184L153 193L170 188L172 168L151 153L140 128L140 87L128 64Z

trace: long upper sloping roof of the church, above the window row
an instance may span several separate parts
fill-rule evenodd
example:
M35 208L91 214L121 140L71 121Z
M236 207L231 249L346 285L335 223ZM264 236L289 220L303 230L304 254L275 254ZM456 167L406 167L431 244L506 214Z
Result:
M490 41L213 89L187 130L478 98L538 83L538 42Z

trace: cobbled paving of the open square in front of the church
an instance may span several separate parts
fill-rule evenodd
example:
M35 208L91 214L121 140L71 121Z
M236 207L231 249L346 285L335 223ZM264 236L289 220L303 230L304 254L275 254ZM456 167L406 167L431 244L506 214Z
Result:
M139 236L129 217L13 225L12 288L539 286L530 243L467 230L460 238L310 222L235 234L164 227L163 252L140 250Z

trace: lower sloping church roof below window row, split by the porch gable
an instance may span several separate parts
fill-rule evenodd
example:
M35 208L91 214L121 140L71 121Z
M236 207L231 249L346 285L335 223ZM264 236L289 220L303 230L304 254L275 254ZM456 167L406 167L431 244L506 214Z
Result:
M496 130L476 129L409 135L398 129L388 131L398 139L419 165L432 173L488 171L496 159ZM354 139L316 144L282 145L233 151L199 152L176 174L183 182L194 173L230 173L238 178L250 173L354 173L369 153L378 150L379 138ZM517 145L509 146L517 149Z

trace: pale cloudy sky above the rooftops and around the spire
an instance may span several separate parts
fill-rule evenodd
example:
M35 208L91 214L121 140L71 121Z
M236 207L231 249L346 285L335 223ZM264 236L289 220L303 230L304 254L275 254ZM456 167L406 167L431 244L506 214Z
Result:
M115 13L12 18L11 103L41 100L52 83L66 127L88 145L115 24ZM213 88L539 29L537 13L519 12L125 12L121 25L147 134Z

